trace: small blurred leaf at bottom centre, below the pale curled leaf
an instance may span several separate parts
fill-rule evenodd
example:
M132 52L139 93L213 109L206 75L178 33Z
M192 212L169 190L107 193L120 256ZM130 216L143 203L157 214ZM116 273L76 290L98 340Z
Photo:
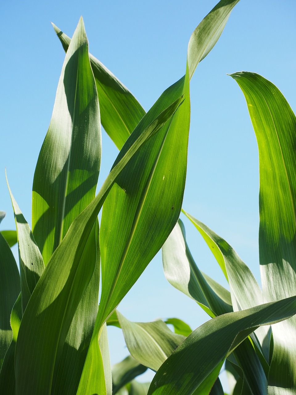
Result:
M116 394L120 388L125 386L135 377L146 372L147 367L141 365L131 355L123 361L112 366L112 395Z

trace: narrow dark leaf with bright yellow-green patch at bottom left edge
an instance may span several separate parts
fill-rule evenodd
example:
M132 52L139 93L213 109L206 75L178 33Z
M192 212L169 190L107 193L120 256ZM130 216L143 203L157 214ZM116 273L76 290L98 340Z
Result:
M3 365L0 371L0 388L5 395L15 395L15 371L14 371L14 354L17 335L22 319L22 300L19 294L11 311L10 325L12 329L12 339L9 348L5 354Z

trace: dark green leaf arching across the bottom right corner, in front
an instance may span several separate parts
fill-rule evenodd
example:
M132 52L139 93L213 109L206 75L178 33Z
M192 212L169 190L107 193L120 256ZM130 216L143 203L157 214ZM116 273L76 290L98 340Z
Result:
M296 296L217 316L189 335L161 365L148 394L208 394L229 355L259 325L296 313Z

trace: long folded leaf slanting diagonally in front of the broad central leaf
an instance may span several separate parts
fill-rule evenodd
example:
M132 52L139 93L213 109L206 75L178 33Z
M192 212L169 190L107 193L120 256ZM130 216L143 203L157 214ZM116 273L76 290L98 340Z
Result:
M74 42L74 41L73 41ZM148 139L155 135L180 105L178 98L146 128L112 168L99 194L71 224L60 245L54 251L38 281L22 318L15 350L16 393L49 393L54 369L58 367L67 332L79 301L88 286L96 260L92 237L97 215L118 175ZM145 147L143 147L145 148ZM92 234L91 234L92 233ZM61 265L63 262L63 265ZM30 339L30 340L28 340ZM92 337L90 355L84 369L95 369L101 355L96 333ZM43 357L43 350L47 358ZM102 358L102 357L100 357ZM30 364L26 361L30 359ZM87 373L86 373L87 377ZM80 384L83 388L84 378ZM88 385L85 381L85 387ZM102 393L103 395L103 393Z

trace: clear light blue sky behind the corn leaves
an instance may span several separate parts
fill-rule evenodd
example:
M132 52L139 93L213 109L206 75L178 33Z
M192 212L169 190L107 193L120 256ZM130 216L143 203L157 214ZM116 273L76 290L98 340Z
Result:
M50 21L71 36L82 15L90 52L135 95L146 111L185 73L191 33L217 0L11 1L2 3L0 210L1 230L15 229L11 190L31 223L32 181L51 119L64 50ZM259 161L244 96L227 73L252 71L272 81L292 109L295 99L294 0L241 0L211 53L191 80L191 129L183 208L226 239L259 275ZM117 149L103 132L99 185ZM184 217L184 216L183 216ZM197 230L184 224L200 269L226 286ZM15 249L15 256L17 250ZM192 329L208 316L165 280L161 255L119 306L127 318L178 317ZM121 331L110 329L111 363L127 355Z

